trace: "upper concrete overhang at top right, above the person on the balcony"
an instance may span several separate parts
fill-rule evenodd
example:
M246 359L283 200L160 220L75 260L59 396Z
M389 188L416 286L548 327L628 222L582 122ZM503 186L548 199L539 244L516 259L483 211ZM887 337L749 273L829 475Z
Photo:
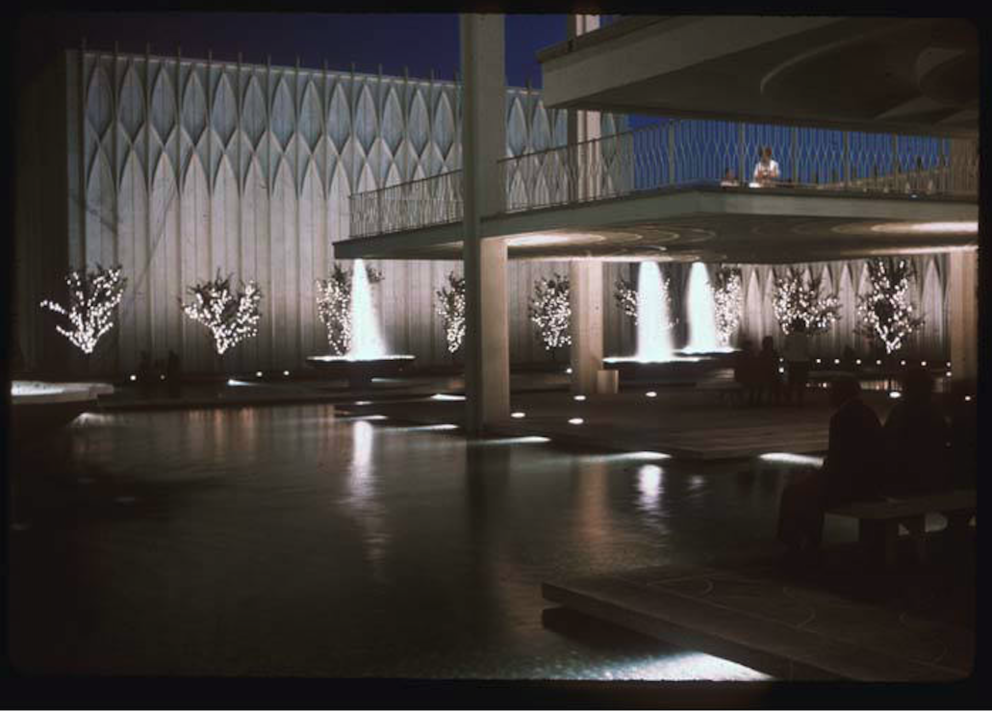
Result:
M974 137L955 19L632 17L538 53L553 108Z

